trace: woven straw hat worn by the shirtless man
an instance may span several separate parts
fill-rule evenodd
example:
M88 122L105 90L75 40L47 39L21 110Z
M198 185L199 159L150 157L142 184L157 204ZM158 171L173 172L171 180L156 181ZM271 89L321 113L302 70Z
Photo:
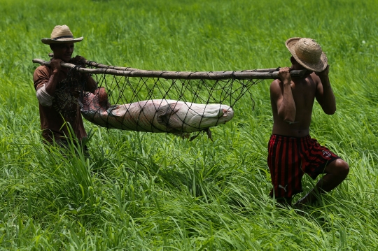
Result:
M286 47L291 55L304 68L310 71L321 72L327 67L328 60L320 45L311 38L289 38Z

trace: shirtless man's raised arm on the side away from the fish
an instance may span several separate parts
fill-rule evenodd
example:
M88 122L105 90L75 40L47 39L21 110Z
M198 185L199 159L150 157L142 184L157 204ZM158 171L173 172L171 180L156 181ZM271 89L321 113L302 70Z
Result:
M315 73L320 80L316 87L316 101L321 105L324 113L332 115L336 112L336 99L328 78L329 68L330 66L327 66L324 71Z

